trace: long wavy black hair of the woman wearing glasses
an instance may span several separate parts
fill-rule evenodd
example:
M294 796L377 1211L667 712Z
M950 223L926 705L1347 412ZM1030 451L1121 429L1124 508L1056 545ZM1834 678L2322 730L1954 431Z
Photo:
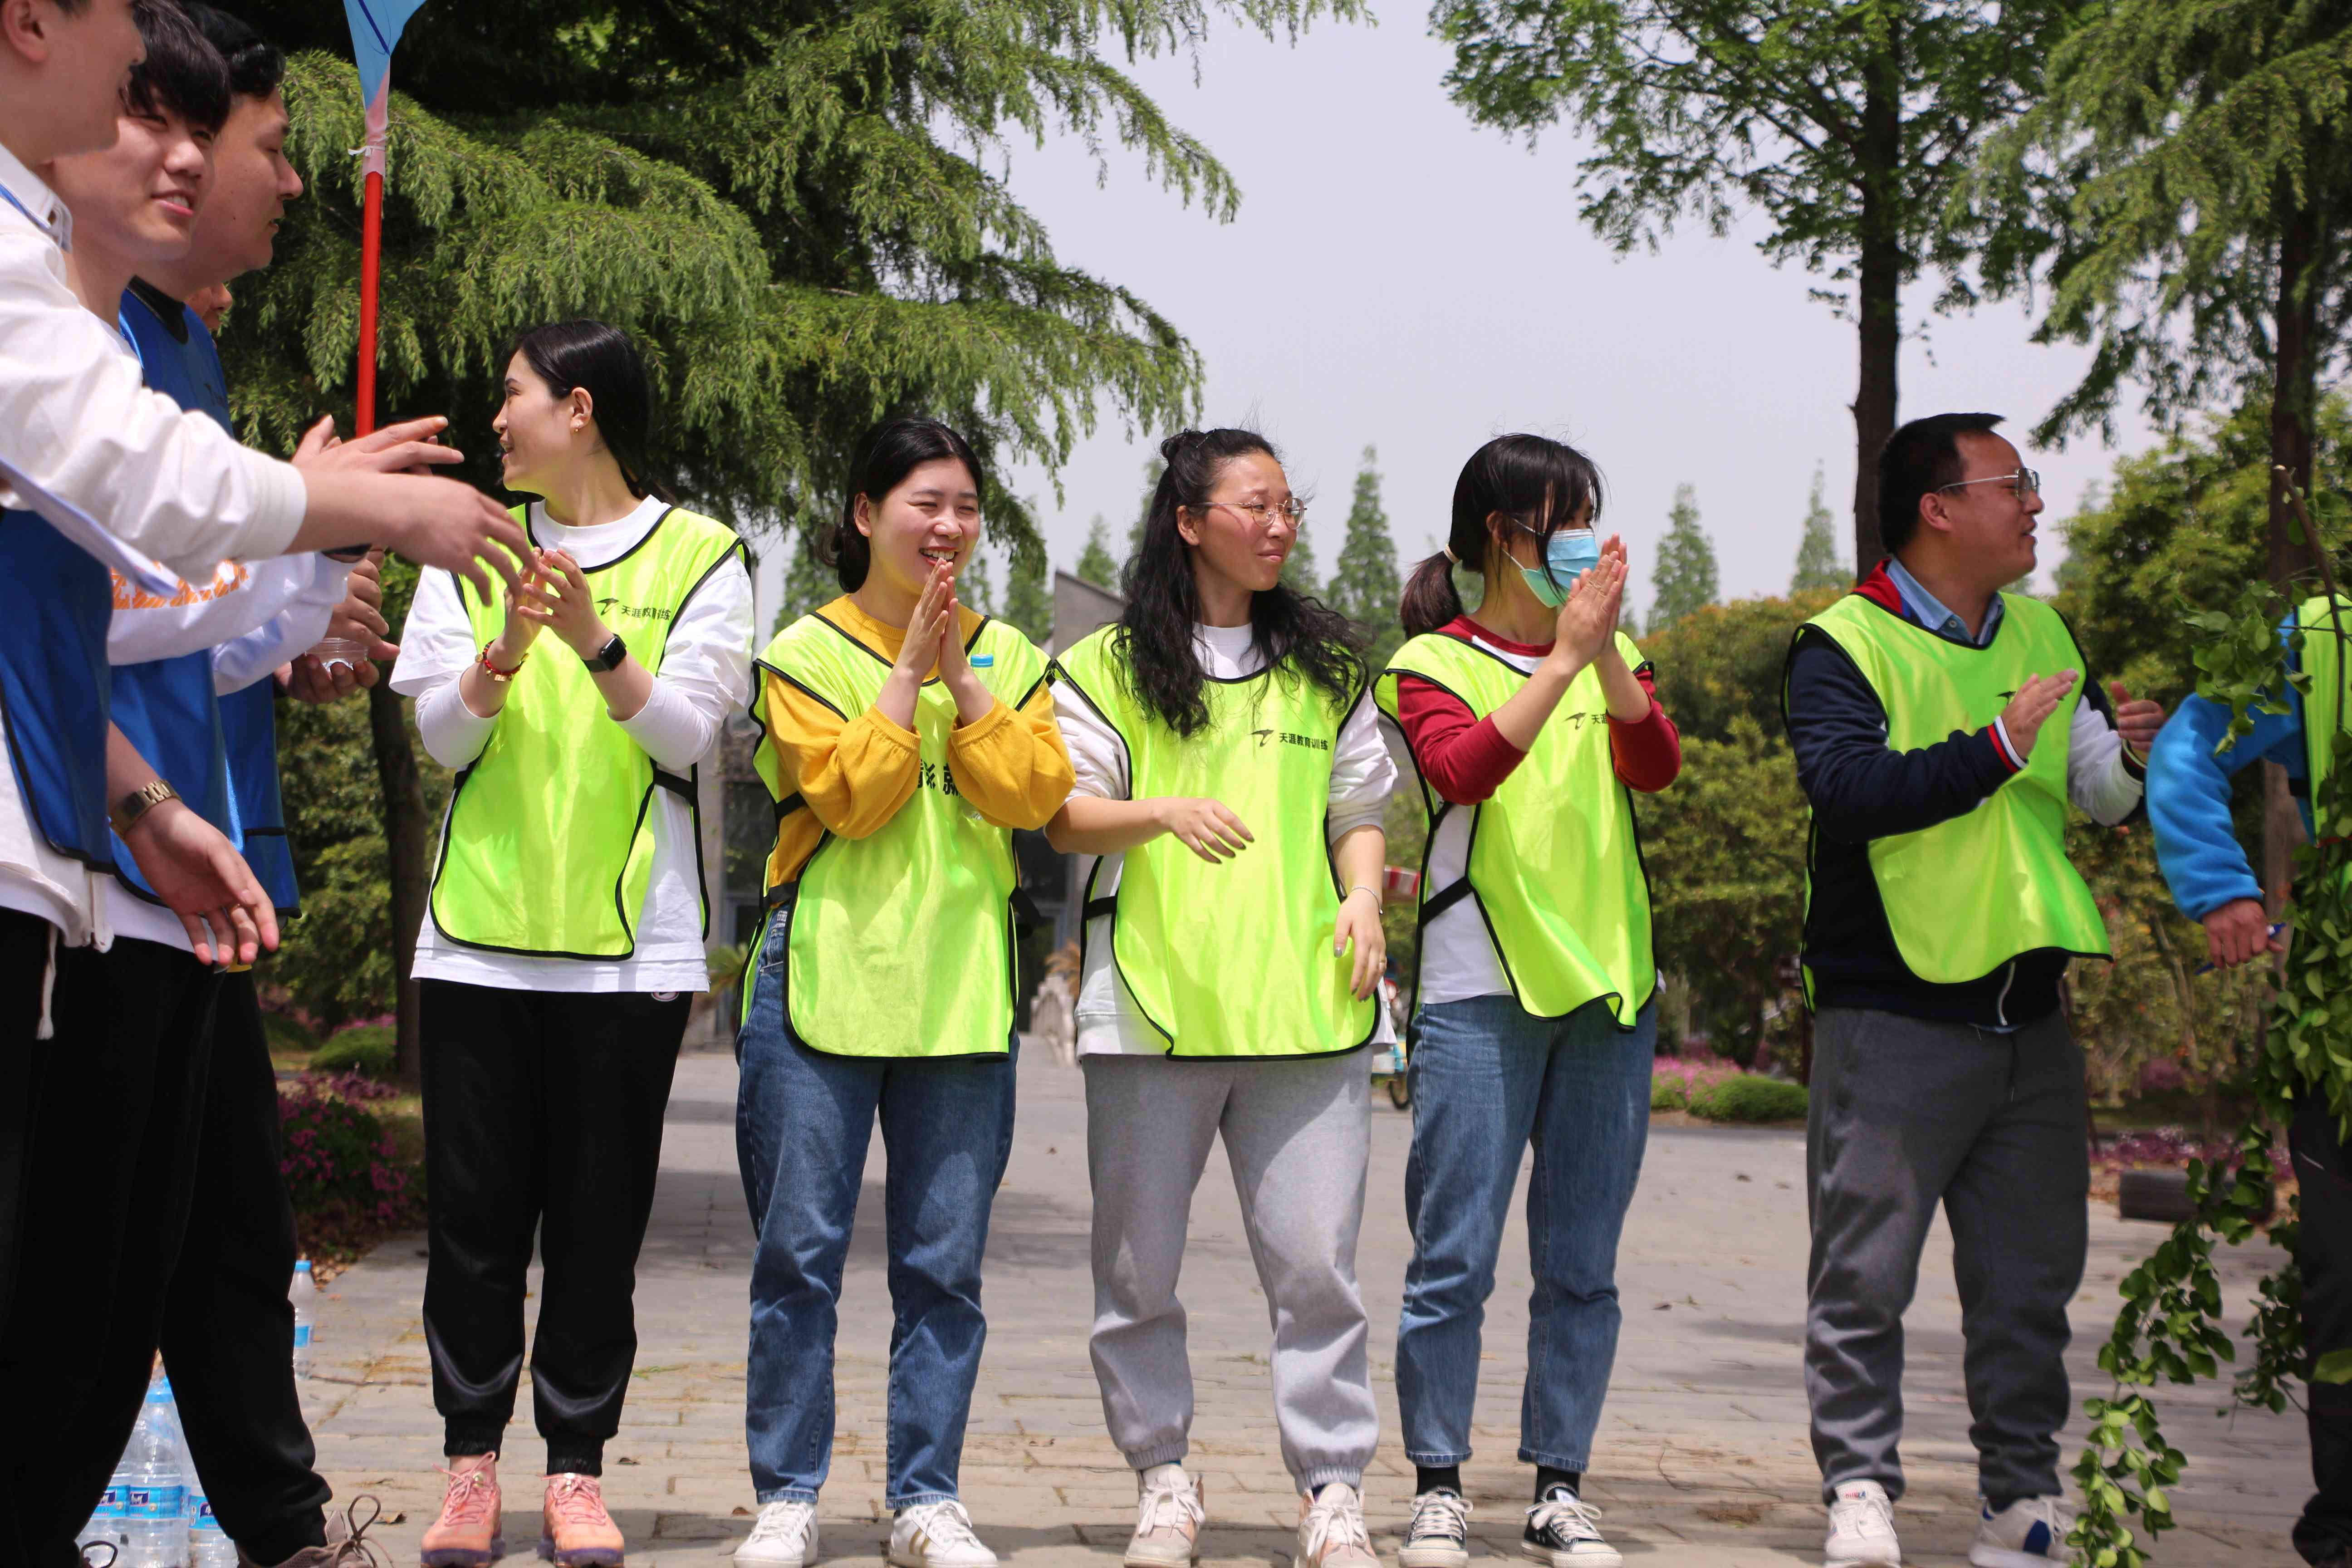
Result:
M1143 543L1127 562L1117 646L1131 670L1134 696L1178 736L1209 724L1209 698L1202 696L1207 670L1192 646L1200 623L1192 545L1176 531L1176 512L1207 505L1225 463L1251 454L1282 461L1256 430L1178 430L1160 442L1167 468L1143 515ZM1364 656L1355 628L1287 583L1249 595L1249 642L1268 670L1303 675L1331 696L1334 708L1345 708L1362 691Z

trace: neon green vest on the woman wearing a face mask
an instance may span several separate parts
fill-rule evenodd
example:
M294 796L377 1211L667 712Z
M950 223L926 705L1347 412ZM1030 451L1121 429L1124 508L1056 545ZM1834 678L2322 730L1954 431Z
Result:
M1618 632L1625 668L1642 651ZM1381 712L1397 717L1397 677L1416 675L1470 708L1479 719L1526 684L1515 665L1461 637L1428 635L1406 642L1374 686ZM1595 668L1569 682L1559 708L1536 736L1526 759L1491 799L1454 806L1421 780L1430 839L1449 811L1470 813L1470 856L1461 882L1432 889L1421 879L1421 924L1458 898L1470 898L1512 997L1536 1018L1566 1018L1588 1001L1609 999L1618 1027L1658 987L1649 938L1649 875L1632 820L1632 792L1616 776L1609 752L1609 698ZM1421 980L1414 978L1418 994Z

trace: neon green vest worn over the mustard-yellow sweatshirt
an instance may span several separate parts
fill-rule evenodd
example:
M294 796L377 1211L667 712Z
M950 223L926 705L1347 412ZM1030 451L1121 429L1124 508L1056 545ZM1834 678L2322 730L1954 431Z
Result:
M1044 654L1002 621L981 621L964 651L1007 708L1021 708L1044 679ZM783 628L760 656L762 684L793 682L844 719L875 705L889 670L882 654L823 614ZM793 903L786 1016L816 1051L1004 1056L1011 1041L1014 835L957 795L948 769L953 729L955 698L927 679L915 698L915 795L863 839L828 832L800 877L769 891L769 903ZM783 816L795 792L767 738L757 766Z

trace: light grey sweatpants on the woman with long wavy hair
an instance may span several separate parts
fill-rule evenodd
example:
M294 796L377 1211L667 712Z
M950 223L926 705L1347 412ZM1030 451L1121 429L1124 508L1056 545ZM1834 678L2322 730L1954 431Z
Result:
M1249 1255L1275 1328L1275 1425L1301 1490L1362 1486L1381 1441L1355 1234L1371 1157L1362 1051L1204 1063L1082 1056L1094 1178L1094 1378L1136 1469L1185 1455L1192 1363L1183 1267L1192 1190L1225 1135Z

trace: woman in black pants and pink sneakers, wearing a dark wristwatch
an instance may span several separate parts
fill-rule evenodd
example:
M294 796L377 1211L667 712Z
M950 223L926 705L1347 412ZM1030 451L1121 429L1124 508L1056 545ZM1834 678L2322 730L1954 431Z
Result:
M449 1486L426 1563L503 1549L496 1458L546 1262L532 1403L541 1552L619 1563L600 1495L635 1359L637 1246L687 999L708 985L694 766L750 684L750 574L670 505L637 348L602 322L527 331L492 430L534 550L520 595L428 571L393 691L459 769L416 978L430 1260L426 1340Z

